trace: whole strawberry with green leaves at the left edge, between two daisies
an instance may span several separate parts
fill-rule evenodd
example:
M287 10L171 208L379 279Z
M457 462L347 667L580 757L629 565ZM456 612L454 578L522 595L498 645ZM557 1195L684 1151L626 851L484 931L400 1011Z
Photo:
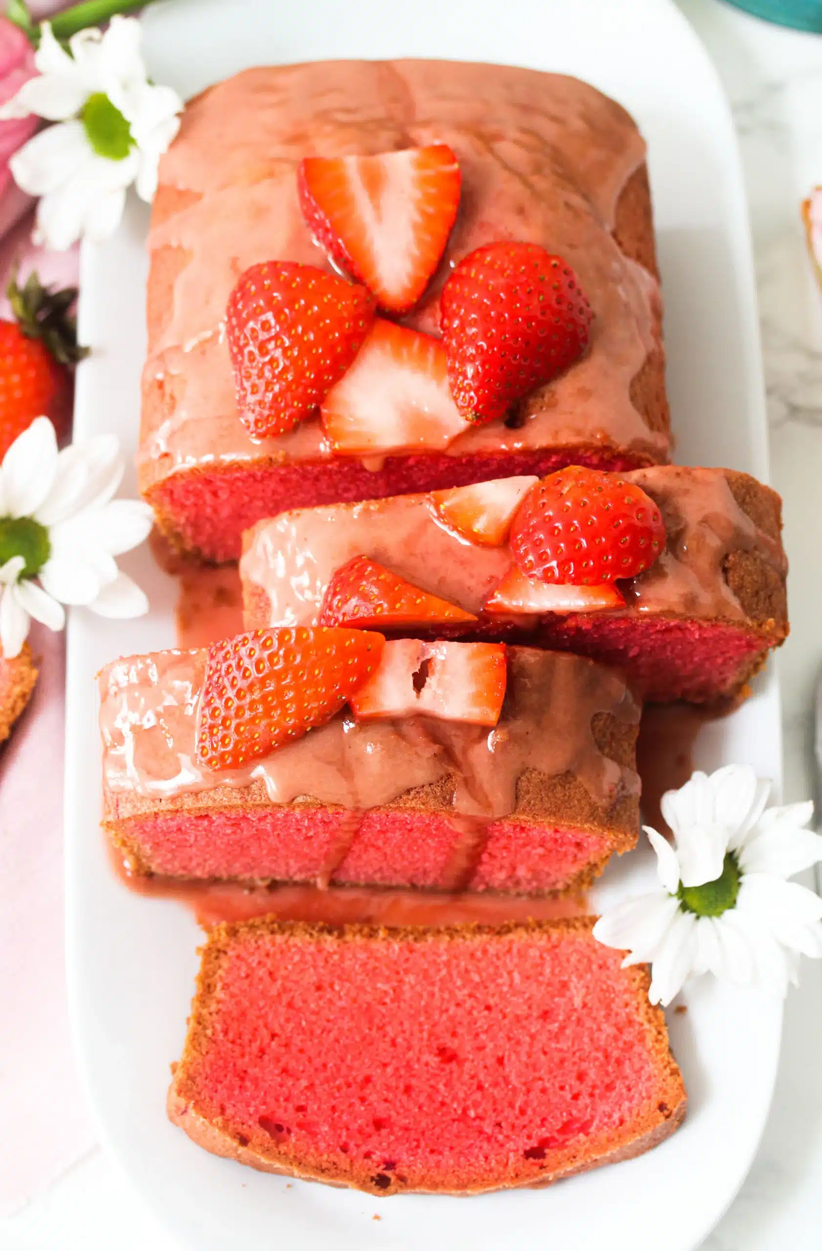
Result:
M51 291L36 274L6 289L14 322L0 320L0 460L35 417L49 417L58 438L71 413L71 367L86 354L78 347L71 308L76 288Z

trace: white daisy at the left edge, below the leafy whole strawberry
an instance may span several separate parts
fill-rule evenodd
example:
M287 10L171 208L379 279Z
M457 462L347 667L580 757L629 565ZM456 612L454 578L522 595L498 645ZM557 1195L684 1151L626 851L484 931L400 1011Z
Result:
M63 629L64 604L101 617L140 617L148 599L114 559L141 543L151 509L113 499L124 462L114 435L58 452L38 417L0 465L0 644L18 656L30 619Z

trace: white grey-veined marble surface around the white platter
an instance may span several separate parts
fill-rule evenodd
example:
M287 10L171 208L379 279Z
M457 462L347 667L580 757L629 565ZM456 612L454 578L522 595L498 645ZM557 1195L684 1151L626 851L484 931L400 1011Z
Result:
M779 657L786 797L813 792L812 692L822 662L822 295L798 205L822 183L822 38L681 0L731 99L746 169L771 419L786 502L792 633ZM787 1003L773 1110L751 1175L703 1251L816 1251L822 1242L822 965ZM672 1213L673 1216L674 1213ZM274 1238L274 1235L273 1235ZM114 1160L96 1150L0 1227L4 1251L174 1251ZM274 1245L274 1241L273 1243ZM661 1232L661 1248L664 1237ZM178 1248L179 1251L179 1248Z

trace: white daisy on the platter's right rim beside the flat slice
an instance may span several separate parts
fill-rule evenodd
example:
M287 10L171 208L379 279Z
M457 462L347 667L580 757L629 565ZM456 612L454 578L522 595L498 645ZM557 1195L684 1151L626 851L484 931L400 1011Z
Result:
M822 957L822 899L787 881L822 861L804 828L813 804L766 808L769 793L747 766L697 772L662 799L674 843L644 827L662 889L618 903L593 932L628 952L623 966L652 966L652 1003L706 972L784 995L798 955Z

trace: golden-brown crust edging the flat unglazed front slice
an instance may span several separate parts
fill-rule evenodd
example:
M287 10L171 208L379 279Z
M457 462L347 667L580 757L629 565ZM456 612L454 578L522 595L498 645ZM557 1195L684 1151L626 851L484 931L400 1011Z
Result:
M302 942L379 942L379 941L410 941L410 942L449 942L453 938L473 937L477 942L494 942L509 936L520 937L523 941L533 940L538 936L554 936L562 941L563 934L589 933L596 917L574 917L562 921L543 922L510 922L502 926L463 924L439 929L422 927L385 929L374 926L345 926L342 929L324 924L308 924L300 922L278 922L268 917L249 922L216 926L209 934L206 943L200 948L203 957L200 972L196 980L196 992L191 1003L191 1016L189 1018L189 1031L183 1050L180 1062L174 1066L174 1076L168 1097L169 1118L188 1136L214 1155L235 1160L239 1163L250 1165L263 1172L282 1173L285 1176L300 1177L307 1181L322 1181L332 1186L348 1186L355 1190L367 1191L374 1196L387 1197L403 1190L397 1185L395 1177L390 1177L390 1185L375 1185L369 1168L352 1167L352 1172L340 1176L322 1160L307 1160L295 1156L282 1143L273 1145L269 1150L263 1150L261 1142L250 1142L244 1135L239 1137L238 1131L225 1117L214 1115L210 1108L201 1106L198 1101L195 1071L200 1057L208 1048L211 1013L216 1007L219 996L220 968L226 952L234 941L241 941L245 934L261 932L264 934L285 934ZM547 1168L545 1173L534 1182L533 1176L518 1178L513 1176L503 1183L489 1182L489 1185L473 1186L469 1190L454 1188L448 1182L435 1185L414 1186L415 1192L470 1195L482 1193L490 1190L515 1188L518 1186L542 1187L549 1186L554 1181L574 1173L586 1172L606 1163L614 1163L619 1160L629 1160L651 1147L657 1146L682 1123L687 1110L687 1096L679 1068L671 1055L668 1045L668 1032L666 1028L664 1013L659 1007L654 1007L648 1001L648 987L651 983L646 966L632 966L623 971L628 985L628 993L636 997L637 1011L647 1031L648 1048L653 1056L658 1087L654 1096L656 1105L646 1110L636 1118L636 1123L622 1126L618 1130L607 1131L588 1140L576 1152L571 1152L563 1165L556 1170ZM596 1156L596 1158L591 1158ZM388 1176L388 1175L383 1175Z

